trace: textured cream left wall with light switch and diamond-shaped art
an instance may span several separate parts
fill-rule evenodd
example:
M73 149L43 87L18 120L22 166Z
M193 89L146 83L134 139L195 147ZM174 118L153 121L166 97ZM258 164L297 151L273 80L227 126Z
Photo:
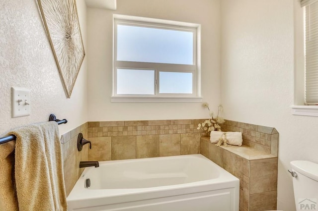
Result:
M77 0L86 47L86 5ZM47 121L50 113L69 120L63 134L87 122L87 57L67 99L36 0L0 2L0 135L21 125ZM31 90L31 114L11 118L12 86Z

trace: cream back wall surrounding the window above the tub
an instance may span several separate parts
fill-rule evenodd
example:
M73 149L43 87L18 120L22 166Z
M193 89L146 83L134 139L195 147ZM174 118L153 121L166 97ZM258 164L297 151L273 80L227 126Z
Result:
M117 10L87 9L89 121L194 119L208 117L201 103L110 103L112 95L113 14L201 24L204 102L220 102L220 1L117 0Z

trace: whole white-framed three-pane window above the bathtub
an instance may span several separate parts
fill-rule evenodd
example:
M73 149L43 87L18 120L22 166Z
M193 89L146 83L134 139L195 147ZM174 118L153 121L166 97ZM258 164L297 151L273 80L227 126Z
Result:
M114 16L112 102L201 102L200 26Z

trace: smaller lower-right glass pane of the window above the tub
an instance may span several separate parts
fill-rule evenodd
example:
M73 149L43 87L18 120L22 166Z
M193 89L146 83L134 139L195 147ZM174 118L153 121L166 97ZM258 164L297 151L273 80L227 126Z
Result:
M192 73L159 72L160 94L192 94Z

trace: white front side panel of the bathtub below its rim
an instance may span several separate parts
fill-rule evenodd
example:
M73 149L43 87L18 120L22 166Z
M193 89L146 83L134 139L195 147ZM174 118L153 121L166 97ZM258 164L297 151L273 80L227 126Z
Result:
M120 204L96 206L92 201L86 202L85 208L79 208L82 203L69 204L70 211L238 211L239 204L233 200L234 188L214 190L173 197L163 197L150 200L134 201Z

